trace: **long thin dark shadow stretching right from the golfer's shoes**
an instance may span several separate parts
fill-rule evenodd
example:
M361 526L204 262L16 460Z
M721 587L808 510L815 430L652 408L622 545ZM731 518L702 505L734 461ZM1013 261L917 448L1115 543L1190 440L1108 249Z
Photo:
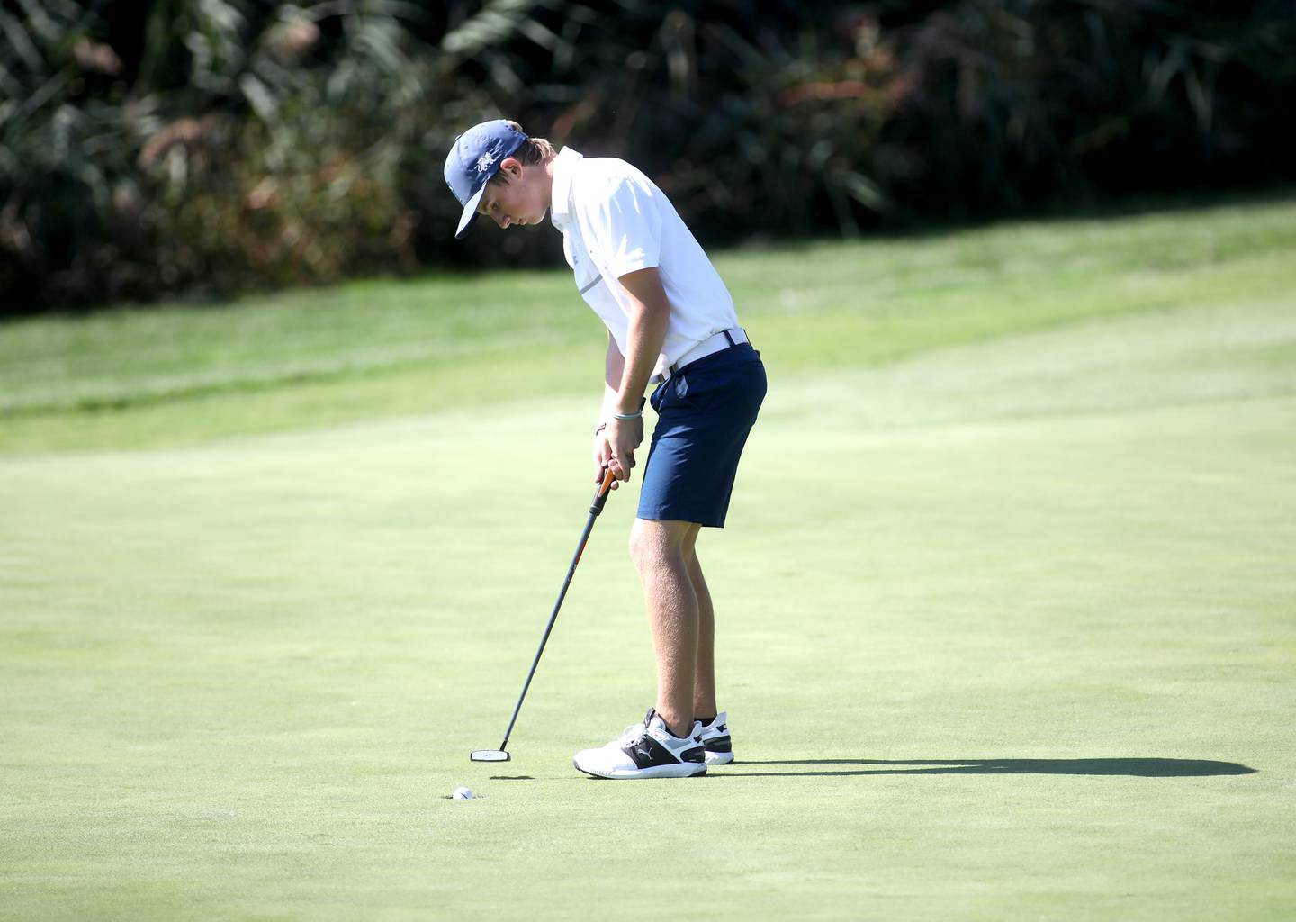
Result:
M748 765L840 765L842 769L798 769L788 772L743 772ZM855 768L858 766L858 768ZM864 774L1089 774L1131 778L1204 778L1218 774L1253 774L1256 769L1238 762L1209 759L787 759L774 761L736 760L717 769L713 777L807 777Z

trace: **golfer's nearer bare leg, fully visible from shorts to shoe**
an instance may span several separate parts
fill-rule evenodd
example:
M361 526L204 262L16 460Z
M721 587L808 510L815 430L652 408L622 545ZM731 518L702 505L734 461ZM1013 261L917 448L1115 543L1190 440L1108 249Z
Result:
M693 726L699 598L689 559L699 528L688 521L636 519L630 532L630 555L643 582L657 656L657 713L679 737Z

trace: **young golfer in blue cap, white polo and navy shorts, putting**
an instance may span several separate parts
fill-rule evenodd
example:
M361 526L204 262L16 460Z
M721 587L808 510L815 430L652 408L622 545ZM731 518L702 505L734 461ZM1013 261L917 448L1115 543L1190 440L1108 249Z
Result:
M722 528L743 446L765 398L759 353L702 248L651 179L610 157L555 152L516 122L483 122L455 140L446 183L502 228L550 213L577 289L608 328L595 479L627 482L644 438L644 390L657 411L630 554L657 657L657 702L642 724L575 753L601 778L687 778L734 761L715 700L715 620L697 561L702 526ZM617 484L613 484L617 485Z

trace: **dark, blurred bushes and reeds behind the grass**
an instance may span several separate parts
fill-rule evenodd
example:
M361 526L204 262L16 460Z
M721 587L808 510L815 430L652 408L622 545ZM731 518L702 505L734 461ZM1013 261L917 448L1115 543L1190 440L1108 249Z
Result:
M499 114L721 241L1290 182L1293 99L1291 0L5 0L0 314L550 262L451 239Z

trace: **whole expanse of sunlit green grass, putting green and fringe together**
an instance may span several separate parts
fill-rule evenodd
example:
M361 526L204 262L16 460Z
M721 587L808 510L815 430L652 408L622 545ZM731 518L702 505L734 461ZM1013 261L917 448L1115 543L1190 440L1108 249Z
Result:
M770 367L651 703L565 274L0 327L0 917L1280 919L1296 204L719 262ZM451 801L456 785L481 796Z

